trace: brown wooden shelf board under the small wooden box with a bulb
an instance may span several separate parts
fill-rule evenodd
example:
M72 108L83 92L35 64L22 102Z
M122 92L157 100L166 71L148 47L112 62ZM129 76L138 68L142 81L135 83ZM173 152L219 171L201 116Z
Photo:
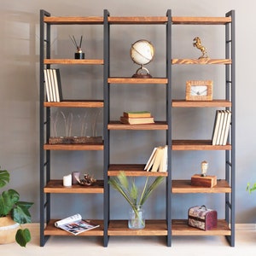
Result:
M229 183L224 179L218 180L217 185L212 188L192 186L191 180L172 180L172 193L231 193Z

